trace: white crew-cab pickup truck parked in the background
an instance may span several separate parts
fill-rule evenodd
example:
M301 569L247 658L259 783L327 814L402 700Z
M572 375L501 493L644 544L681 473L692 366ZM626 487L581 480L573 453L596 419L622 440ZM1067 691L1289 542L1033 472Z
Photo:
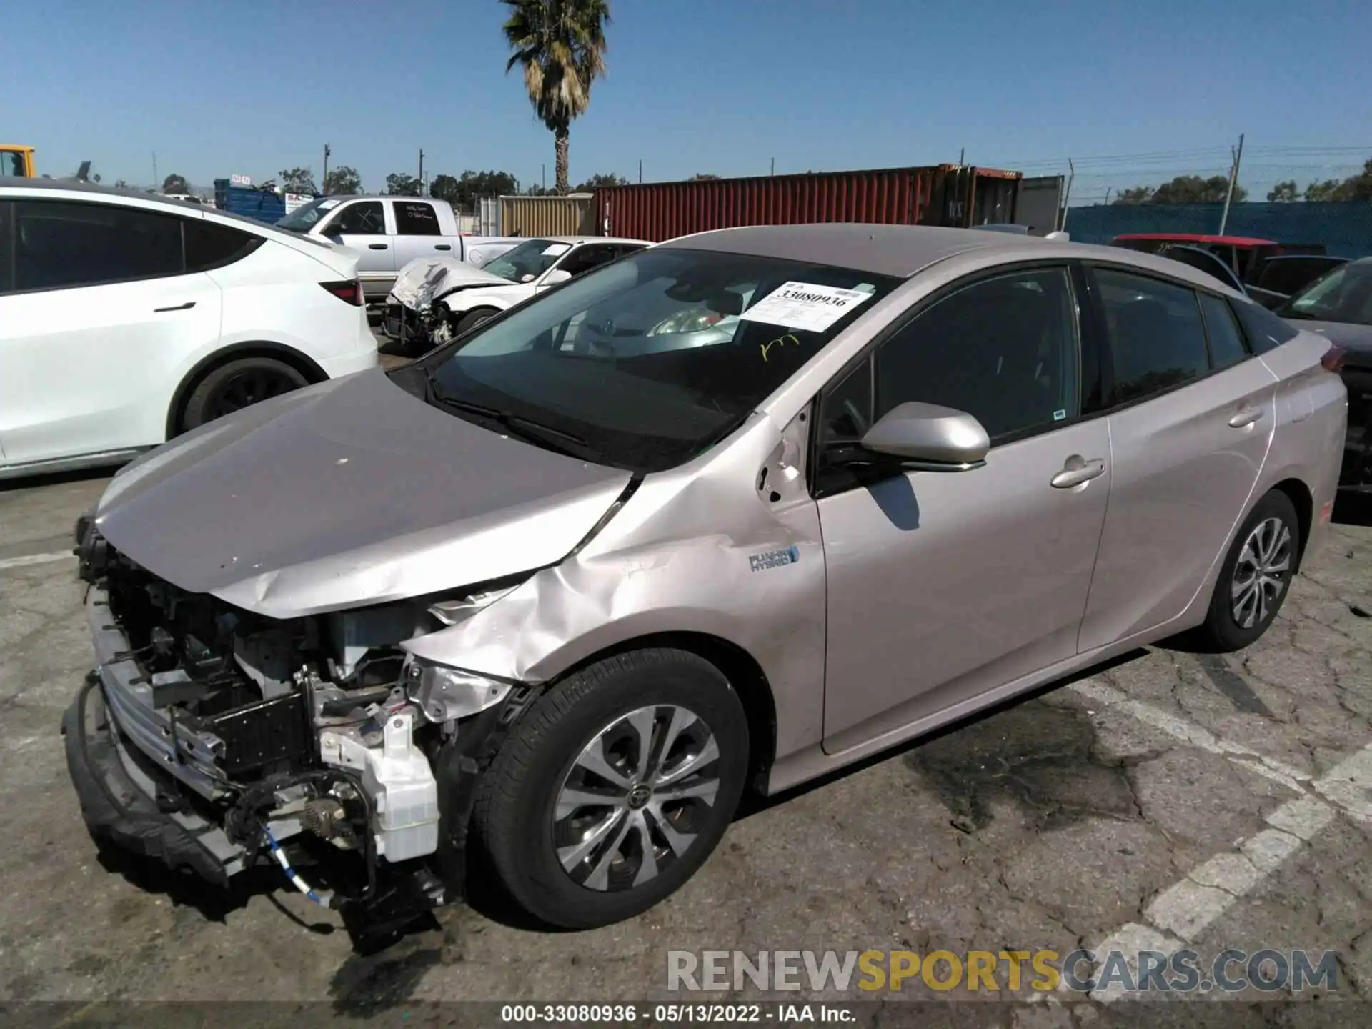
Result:
M355 250L368 303L383 302L397 272L414 258L450 257L480 268L524 241L464 236L453 207L431 196L321 196L296 207L277 226Z

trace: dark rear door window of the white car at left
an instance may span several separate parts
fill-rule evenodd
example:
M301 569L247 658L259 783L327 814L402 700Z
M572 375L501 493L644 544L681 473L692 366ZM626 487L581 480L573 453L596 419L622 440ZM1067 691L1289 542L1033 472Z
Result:
M181 222L108 203L16 200L14 277L16 289L55 289L184 270Z

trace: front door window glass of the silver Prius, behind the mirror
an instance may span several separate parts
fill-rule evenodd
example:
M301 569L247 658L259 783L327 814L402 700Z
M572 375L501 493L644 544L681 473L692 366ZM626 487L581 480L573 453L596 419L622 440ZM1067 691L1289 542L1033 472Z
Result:
M908 401L975 417L992 440L1077 414L1077 306L1065 268L973 283L882 343L871 391L862 373L826 399L820 439L860 439Z

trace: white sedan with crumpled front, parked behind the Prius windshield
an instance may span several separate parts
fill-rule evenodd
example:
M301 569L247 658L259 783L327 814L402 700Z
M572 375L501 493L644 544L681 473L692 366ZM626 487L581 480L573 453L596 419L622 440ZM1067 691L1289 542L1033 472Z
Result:
M406 344L443 343L591 269L650 246L641 239L531 239L473 268L457 258L417 258L395 277L381 331Z

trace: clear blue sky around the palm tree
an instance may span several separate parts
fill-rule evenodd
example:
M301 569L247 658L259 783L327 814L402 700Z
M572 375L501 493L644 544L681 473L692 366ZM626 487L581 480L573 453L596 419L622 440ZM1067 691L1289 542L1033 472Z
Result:
M1253 192L1372 156L1367 0L1036 4L612 0L609 77L572 126L573 184L956 161L1066 172L1074 199L1225 173ZM10 4L0 139L106 182L351 165L553 181L505 74L495 0ZM1146 155L1146 156L1139 156ZM1122 159L1121 159L1122 158ZM1261 198L1257 198L1261 199Z

